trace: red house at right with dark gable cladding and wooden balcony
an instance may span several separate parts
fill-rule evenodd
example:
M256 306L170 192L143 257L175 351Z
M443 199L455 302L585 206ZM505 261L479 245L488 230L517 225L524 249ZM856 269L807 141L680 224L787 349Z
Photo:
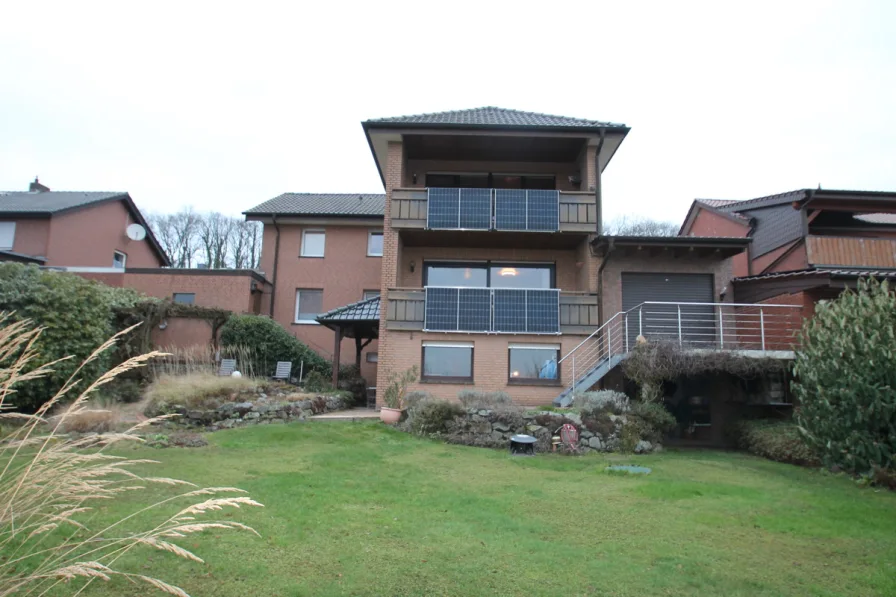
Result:
M804 189L746 201L696 200L680 235L750 238L733 260L735 300L800 305L896 278L896 193Z

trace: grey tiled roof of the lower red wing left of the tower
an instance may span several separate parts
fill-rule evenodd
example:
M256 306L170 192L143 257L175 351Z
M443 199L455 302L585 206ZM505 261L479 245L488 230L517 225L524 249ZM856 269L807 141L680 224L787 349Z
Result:
M385 209L382 193L283 193L243 213L383 217Z

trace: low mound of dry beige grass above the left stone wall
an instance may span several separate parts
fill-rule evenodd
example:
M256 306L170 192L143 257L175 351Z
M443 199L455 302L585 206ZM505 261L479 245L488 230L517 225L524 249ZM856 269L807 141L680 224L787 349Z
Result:
M146 391L146 413L174 412L174 407L187 410L209 410L225 402L238 401L241 395L256 392L268 382L251 377L218 376L210 373L163 375Z

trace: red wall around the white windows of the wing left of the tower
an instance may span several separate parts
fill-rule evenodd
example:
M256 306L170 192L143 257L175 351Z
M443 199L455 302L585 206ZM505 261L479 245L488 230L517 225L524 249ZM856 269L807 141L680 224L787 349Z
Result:
M377 223L378 224L378 223ZM277 264L276 297L273 318L296 338L322 356L332 359L335 332L321 325L295 323L296 289L322 289L323 309L329 311L360 301L365 290L379 290L382 257L367 256L367 238L375 223L358 226L280 224L280 259ZM301 257L302 231L324 230L324 257ZM261 267L270 279L274 271L276 230L265 224ZM269 298L262 302L262 313L270 312ZM341 344L343 365L355 362L354 340ZM369 344L361 357L361 374L373 385L376 364L367 363L367 353L377 352L376 342Z

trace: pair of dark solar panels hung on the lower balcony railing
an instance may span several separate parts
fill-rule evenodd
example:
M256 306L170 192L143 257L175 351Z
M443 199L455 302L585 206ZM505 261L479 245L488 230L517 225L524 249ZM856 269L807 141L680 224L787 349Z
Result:
M556 288L427 286L424 331L559 334Z

